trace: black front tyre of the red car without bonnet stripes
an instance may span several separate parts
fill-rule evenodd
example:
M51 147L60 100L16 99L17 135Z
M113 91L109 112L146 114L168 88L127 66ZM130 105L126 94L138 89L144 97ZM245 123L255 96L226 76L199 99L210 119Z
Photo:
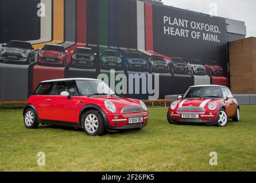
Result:
M90 117L89 115L95 116L97 118L96 120L98 120L98 128L96 128L96 130L94 128L95 132L90 132L88 130L89 127L87 127L86 125L86 118ZM81 124L84 132L86 132L88 136L102 136L106 129L106 125L103 121L102 115L98 112L98 110L88 110L87 112L84 112L82 114Z

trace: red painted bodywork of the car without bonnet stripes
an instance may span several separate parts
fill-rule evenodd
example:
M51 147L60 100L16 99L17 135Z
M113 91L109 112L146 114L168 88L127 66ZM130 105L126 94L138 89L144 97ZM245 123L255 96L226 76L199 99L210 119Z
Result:
M59 82L59 80L50 82ZM62 79L61 81L75 82L75 80L75 78L71 78ZM94 80L96 81L96 79ZM104 105L105 101L113 102L116 108L114 113L106 109L106 106ZM71 98L67 98L64 96L53 95L53 93L51 95L33 94L26 102L24 114L26 109L33 108L37 113L38 120L57 121L57 123L59 122L59 125L61 125L61 122L66 122L66 124L71 126L79 127L81 115L84 110L87 109L87 106L89 106L88 108L90 109L93 108L102 113L104 122L106 124L106 129L110 132L116 130L143 128L148 124L149 112L148 110L143 109L141 101L131 98L120 98L117 96L72 96ZM127 113L122 112L122 110L125 108L139 108L141 111ZM104 118L104 116L106 118ZM129 124L129 118L137 117L142 117L143 122L139 123L138 125Z

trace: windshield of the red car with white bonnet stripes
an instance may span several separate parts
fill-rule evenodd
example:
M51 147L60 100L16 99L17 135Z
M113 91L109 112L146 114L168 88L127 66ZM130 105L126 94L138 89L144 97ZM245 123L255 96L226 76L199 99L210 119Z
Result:
M222 94L216 86L190 87L184 98L222 98Z

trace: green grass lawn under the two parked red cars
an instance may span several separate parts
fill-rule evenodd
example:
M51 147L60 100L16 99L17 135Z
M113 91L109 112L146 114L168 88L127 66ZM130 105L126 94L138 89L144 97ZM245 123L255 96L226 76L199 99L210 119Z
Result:
M22 110L0 110L0 171L248 171L256 170L256 106L226 128L170 125L167 108L150 108L141 131L87 136L56 126L26 129ZM37 165L44 152L45 166ZM210 166L210 152L218 166Z

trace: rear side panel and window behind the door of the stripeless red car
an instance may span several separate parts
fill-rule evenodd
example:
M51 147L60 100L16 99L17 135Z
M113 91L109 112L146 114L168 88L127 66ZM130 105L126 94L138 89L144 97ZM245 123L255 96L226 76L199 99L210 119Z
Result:
M40 83L34 92L36 100L34 100L33 104L36 107L38 118L40 120L48 119L48 108L46 108L46 106L49 104L48 99L51 98L52 87L53 82Z

